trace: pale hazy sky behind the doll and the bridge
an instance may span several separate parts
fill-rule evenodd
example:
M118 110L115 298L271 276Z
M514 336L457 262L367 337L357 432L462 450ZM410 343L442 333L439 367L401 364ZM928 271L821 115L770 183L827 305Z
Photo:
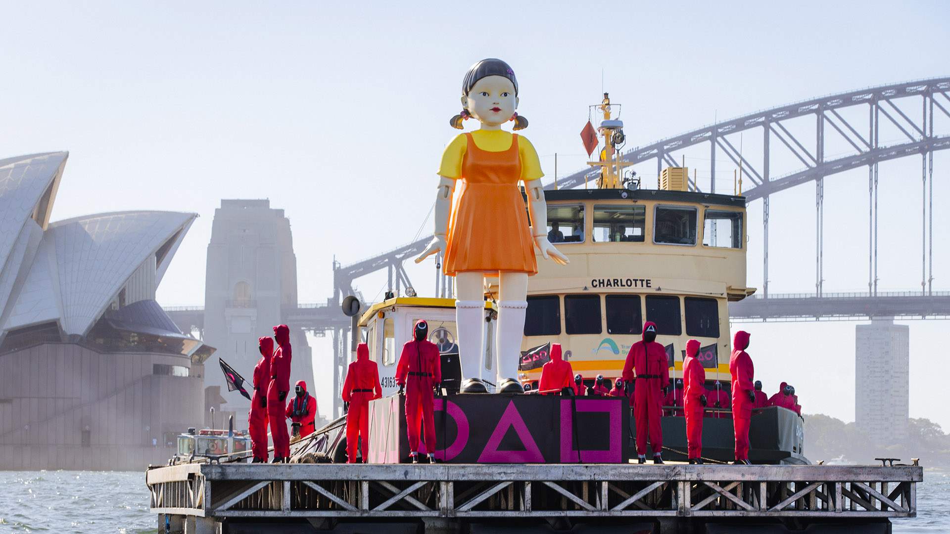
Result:
M162 282L165 305L202 303L219 200L268 198L291 219L299 298L314 302L331 295L334 256L349 263L416 236L462 76L479 59L503 58L517 73L519 112L531 122L523 133L549 176L556 152L561 173L583 166L578 134L601 87L624 105L634 146L716 117L950 73L942 1L661 4L0 2L0 158L69 150L54 220L198 213ZM899 136L883 132L882 143ZM705 154L687 164L708 183ZM935 204L945 205L950 155L934 160ZM733 165L718 165L719 189L731 190ZM772 175L800 166L776 155ZM920 159L881 168L880 288L919 289ZM656 163L639 170L650 183ZM826 292L866 289L866 178L859 169L826 181ZM750 204L756 287L761 211ZM770 290L813 291L814 184L775 196L771 223ZM939 209L934 226L948 223ZM947 239L936 236L935 287L950 290ZM409 274L420 294L431 291L431 261ZM372 298L383 282L377 274L358 287ZM769 392L788 380L807 412L853 420L854 324L742 327ZM947 322L908 324L911 415L950 429L930 381L950 372ZM326 412L320 370L331 347L313 342Z

